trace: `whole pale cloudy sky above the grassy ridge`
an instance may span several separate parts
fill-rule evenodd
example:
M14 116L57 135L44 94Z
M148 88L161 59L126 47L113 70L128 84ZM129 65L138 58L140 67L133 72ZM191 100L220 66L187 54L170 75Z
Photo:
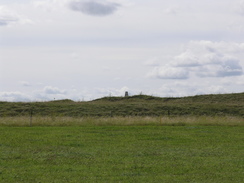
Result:
M0 101L244 92L244 0L0 0Z

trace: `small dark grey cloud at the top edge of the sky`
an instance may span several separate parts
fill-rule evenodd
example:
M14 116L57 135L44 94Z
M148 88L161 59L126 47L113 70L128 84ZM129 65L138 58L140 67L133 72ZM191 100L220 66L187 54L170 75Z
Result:
M81 13L92 15L92 16L106 16L113 14L120 4L108 2L108 1L71 1L69 8L73 11L79 11Z

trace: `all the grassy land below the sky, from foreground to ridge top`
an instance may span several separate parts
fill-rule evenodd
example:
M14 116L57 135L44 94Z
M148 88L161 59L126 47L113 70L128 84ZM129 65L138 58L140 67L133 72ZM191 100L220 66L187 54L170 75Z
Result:
M244 180L244 93L0 102L0 182Z

